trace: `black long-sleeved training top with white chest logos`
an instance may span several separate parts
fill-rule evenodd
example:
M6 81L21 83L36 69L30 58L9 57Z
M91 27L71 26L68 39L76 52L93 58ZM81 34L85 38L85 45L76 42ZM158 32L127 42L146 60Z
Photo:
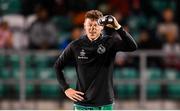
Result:
M72 41L55 63L57 79L63 91L69 88L63 68L72 61L75 63L76 90L85 93L83 96L85 100L75 104L83 106L112 104L114 99L112 76L116 52L137 49L134 39L122 27L110 31L107 28L107 33L106 30L104 32L95 41L90 41L86 35Z

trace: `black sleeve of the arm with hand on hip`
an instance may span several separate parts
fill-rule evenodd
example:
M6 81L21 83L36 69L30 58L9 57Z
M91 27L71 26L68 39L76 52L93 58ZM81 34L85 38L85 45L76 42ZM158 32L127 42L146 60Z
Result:
M54 68L56 71L57 80L62 88L63 91L69 88L68 83L65 80L63 69L64 67L73 61L73 51L71 48L71 43L64 49L62 54L59 56L59 58L56 60L54 64Z

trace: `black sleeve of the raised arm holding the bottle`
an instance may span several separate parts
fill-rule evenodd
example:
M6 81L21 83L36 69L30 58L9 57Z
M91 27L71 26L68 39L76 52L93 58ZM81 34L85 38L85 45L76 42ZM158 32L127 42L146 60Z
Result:
M116 32L119 34L119 36L114 37L116 51L134 51L137 49L135 40L122 27Z

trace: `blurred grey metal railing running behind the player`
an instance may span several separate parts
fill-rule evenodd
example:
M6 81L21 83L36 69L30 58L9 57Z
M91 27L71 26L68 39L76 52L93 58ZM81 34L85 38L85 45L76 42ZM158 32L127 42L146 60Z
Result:
M20 76L19 80L16 79L2 79L0 78L0 84L19 84L20 92L19 92L19 101L21 104L21 109L24 108L24 104L26 101L26 84L58 84L56 79L34 79L34 80L27 80L25 77L26 72L26 63L25 63L25 56L27 55L43 55L43 56L53 56L58 57L61 51L51 50L51 51L43 51L43 50L0 50L0 55L11 55L17 54L20 57ZM123 52L124 53L124 52ZM121 54L118 53L118 54ZM180 80L149 80L147 78L147 57L163 57L166 55L165 52L161 50L148 50L148 51L135 51L135 52L127 52L125 53L128 56L138 56L139 57L139 72L140 77L137 79L121 79L121 80L114 80L115 84L137 84L140 86L140 100L139 105L140 108L144 109L145 104L147 102L147 84L148 83L160 83L160 84L167 84L167 83L180 83ZM176 55L180 55L180 53L176 53ZM55 61L54 61L55 62ZM53 68L53 67L52 67Z

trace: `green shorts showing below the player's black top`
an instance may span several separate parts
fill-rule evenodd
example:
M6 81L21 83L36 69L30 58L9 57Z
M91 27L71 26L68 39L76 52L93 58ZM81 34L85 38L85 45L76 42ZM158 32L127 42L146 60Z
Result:
M113 104L109 105L103 105L103 106L98 106L98 107L89 107L89 106L81 106L74 104L74 110L113 110Z

